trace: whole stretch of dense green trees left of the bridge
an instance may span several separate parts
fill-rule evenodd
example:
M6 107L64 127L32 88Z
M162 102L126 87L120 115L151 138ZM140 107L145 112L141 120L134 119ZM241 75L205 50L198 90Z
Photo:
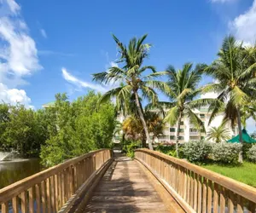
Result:
M55 95L55 105L37 111L0 104L0 149L41 157L46 166L112 146L115 111L110 101L90 91L75 101Z

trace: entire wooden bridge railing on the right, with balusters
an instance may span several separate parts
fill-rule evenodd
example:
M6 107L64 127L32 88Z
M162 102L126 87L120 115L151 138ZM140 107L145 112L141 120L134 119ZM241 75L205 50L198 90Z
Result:
M255 212L254 187L148 149L137 149L135 157L186 212Z

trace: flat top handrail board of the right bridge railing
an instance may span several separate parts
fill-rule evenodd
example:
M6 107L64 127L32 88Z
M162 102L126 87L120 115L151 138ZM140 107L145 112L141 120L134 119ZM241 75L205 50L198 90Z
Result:
M158 156L160 158L165 158L166 160L172 161L174 164L183 166L184 168L194 171L196 174L206 177L213 182L218 183L218 185L223 186L230 191L241 195L243 198L253 201L256 203L256 188L250 187L247 184L244 184L240 181L235 181L226 176L222 176L216 172L211 170L204 169L195 164L190 164L182 159L173 158L172 156L168 156L163 153L159 153L156 151L148 150L148 149L137 149L135 152L143 152L150 154L152 156Z

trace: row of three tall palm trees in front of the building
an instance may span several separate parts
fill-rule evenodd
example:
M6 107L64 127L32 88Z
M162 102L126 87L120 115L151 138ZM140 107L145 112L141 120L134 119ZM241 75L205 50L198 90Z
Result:
M212 64L185 63L182 69L168 66L166 71L157 72L154 66L145 66L144 60L149 56L151 44L144 43L147 35L133 37L126 46L113 35L119 49L119 66L113 66L106 72L93 75L99 83L119 82L120 86L102 95L99 102L112 97L116 98L119 111L125 116L136 116L143 126L143 133L148 147L153 149L149 135L145 111L147 109L168 110L165 121L177 124L176 151L178 157L178 138L183 117L190 123L205 131L201 119L193 112L194 108L208 107L212 119L224 112L224 123L232 127L238 125L240 141L242 121L249 117L255 118L256 95L256 45L245 46L233 36L224 38L218 51L218 58ZM146 75L146 72L151 72ZM204 75L211 76L215 81L199 86ZM166 78L161 80L160 78ZM157 91L161 91L169 101L160 101ZM198 98L201 94L214 92L217 98ZM143 101L147 101L144 108Z

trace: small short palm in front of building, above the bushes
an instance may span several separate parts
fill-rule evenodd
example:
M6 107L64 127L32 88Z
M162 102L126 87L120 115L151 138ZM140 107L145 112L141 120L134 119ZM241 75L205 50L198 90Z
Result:
M225 124L221 124L218 127L212 127L207 132L207 139L216 143L228 141L230 139L230 129L225 127Z

